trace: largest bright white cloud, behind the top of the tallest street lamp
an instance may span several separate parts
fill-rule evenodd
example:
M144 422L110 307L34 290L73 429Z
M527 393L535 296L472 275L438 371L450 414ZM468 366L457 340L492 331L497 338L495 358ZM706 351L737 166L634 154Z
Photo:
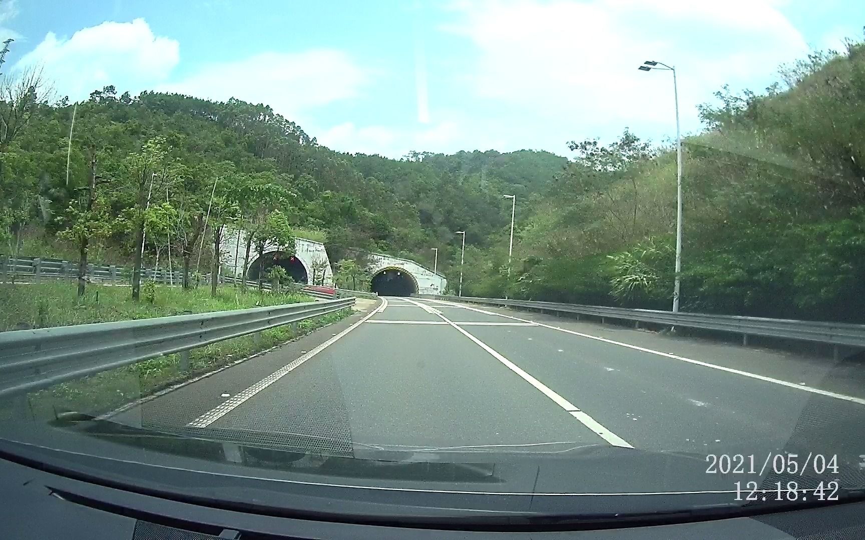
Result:
M779 64L808 51L772 0L490 0L453 10L445 31L478 49L465 66L473 91L509 116L554 124L541 146L555 151L625 126L675 133L670 73L639 72L643 60L676 65L687 131L699 126L695 105L723 84L760 91Z

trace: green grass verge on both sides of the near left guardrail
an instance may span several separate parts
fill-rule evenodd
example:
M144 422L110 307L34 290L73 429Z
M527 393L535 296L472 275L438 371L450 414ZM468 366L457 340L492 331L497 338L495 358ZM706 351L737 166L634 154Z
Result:
M100 291L99 302L96 302L93 290L88 294L89 299L77 302L74 283L0 286L0 328L14 329L21 323L30 327L46 327L119 321L311 300L305 295L259 295L253 291L244 294L234 289L222 289L217 298L211 298L209 289L183 291L160 288L157 289L157 301L149 304L131 302L128 299L128 288L102 289L106 290ZM309 334L317 328L341 321L352 313L352 309L348 308L300 321L297 333L292 332L289 325L285 325L262 331L260 340L254 340L252 335L247 335L193 349L189 352L189 370L185 372L179 369L179 355L170 354L57 384L44 391L31 392L29 413L37 419L52 418L58 410L76 410L99 415L172 384L195 378L251 354ZM16 414L13 410L10 403L0 404L0 418Z

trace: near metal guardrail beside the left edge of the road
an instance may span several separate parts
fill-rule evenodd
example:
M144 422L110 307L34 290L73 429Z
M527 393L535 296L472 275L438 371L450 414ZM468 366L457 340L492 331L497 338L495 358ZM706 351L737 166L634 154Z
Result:
M0 332L0 397L333 313L354 298Z

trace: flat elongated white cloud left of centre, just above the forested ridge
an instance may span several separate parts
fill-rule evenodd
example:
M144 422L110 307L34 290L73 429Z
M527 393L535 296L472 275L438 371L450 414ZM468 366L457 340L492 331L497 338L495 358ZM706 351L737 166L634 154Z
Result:
M264 103L286 118L297 120L311 108L356 97L368 79L368 73L348 54L318 49L301 53L268 52L210 64L188 77L158 86L157 90Z

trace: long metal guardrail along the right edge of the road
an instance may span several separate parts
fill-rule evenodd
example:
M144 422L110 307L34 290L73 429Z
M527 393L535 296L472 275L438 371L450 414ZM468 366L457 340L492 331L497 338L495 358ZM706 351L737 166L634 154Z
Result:
M795 321L791 319L766 319L740 315L717 315L702 313L673 313L654 309L611 308L586 306L558 302L535 302L530 300L504 300L501 298L474 298L470 296L421 295L452 302L469 302L488 306L510 308L532 308L545 311L594 315L601 318L625 321L649 322L670 327L702 328L742 334L743 345L748 336L765 336L788 340L816 341L839 346L865 347L865 325L843 322Z

